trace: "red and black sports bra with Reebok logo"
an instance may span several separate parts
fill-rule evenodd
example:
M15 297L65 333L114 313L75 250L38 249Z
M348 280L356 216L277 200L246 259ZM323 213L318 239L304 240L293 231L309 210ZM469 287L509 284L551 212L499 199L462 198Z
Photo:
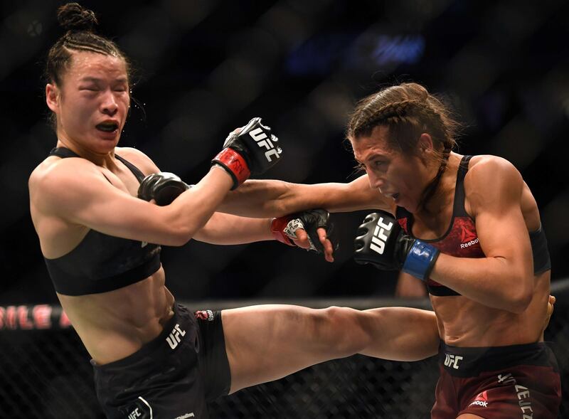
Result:
M464 156L460 161L457 184L454 189L452 218L448 230L440 238L420 240L435 246L435 248L447 255L459 258L484 258L485 255L480 247L474 220L464 209L464 176L467 174L471 157ZM403 230L413 236L413 214L405 210L405 208L398 206L395 218L397 218ZM538 230L529 233L529 238L533 253L533 271L535 275L550 270L551 260L549 258L545 231L540 227ZM431 295L437 296L459 295L458 292L431 279L427 280L427 290Z

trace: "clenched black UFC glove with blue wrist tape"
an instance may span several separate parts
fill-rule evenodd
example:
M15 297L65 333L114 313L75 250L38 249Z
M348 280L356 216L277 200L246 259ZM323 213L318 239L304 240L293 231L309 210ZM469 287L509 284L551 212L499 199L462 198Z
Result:
M358 228L354 240L356 262L371 263L381 270L403 270L420 280L428 280L440 251L412 238L393 216L371 213Z

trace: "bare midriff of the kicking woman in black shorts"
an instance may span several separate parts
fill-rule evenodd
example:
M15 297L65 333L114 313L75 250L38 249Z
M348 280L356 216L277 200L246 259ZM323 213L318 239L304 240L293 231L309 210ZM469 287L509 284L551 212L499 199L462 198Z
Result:
M174 296L165 286L162 267L145 280L119 290L58 297L97 364L134 354L156 338L174 315Z

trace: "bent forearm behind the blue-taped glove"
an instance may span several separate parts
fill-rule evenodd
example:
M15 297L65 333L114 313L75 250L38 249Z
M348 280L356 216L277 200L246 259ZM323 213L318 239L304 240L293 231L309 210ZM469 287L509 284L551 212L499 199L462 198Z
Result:
M523 312L531 301L533 275L505 258L455 258L441 253L430 278L480 304Z

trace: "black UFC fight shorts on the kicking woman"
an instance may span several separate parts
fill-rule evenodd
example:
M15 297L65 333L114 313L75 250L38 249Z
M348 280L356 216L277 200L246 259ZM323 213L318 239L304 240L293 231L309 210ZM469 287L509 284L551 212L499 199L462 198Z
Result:
M206 401L228 394L230 387L221 313L192 313L177 304L156 339L127 358L93 368L107 418L208 418Z

